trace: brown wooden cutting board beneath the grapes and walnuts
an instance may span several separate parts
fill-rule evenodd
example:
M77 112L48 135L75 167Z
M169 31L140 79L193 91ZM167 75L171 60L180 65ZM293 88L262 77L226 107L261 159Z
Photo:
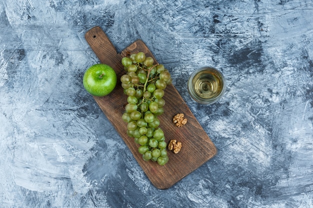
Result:
M182 143L181 151L178 154L174 154L167 150L169 161L164 166L159 166L156 162L143 161L142 155L138 153L139 145L134 143L133 138L127 136L127 124L121 119L124 106L127 103L127 96L123 94L119 80L120 76L125 73L121 64L121 58L128 54L142 51L146 56L151 56L155 63L157 61L141 40L136 40L118 54L113 44L98 26L88 30L85 34L85 39L100 62L111 66L115 70L118 80L113 92L104 97L94 96L94 99L156 188L167 189L171 187L216 154L214 144L195 119L176 88L171 84L167 85L164 90L165 106L163 107L164 113L158 116L160 120L159 127L164 131L166 143L171 139ZM172 123L172 118L177 113L185 115L185 118L187 118L186 125L176 127Z

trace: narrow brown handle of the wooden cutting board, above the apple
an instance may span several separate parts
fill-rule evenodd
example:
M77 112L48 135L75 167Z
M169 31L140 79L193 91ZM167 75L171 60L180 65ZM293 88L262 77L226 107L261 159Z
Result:
M116 52L112 42L99 26L92 27L85 33L85 39L101 63L111 66L117 73L121 71L121 55Z

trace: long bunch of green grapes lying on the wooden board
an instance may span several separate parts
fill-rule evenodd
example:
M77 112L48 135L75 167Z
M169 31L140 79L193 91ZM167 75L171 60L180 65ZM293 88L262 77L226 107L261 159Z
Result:
M122 120L127 122L127 135L139 145L142 159L162 166L168 162L167 144L157 116L164 112L164 89L171 77L164 65L153 62L141 51L121 59L126 73L120 81L127 95Z

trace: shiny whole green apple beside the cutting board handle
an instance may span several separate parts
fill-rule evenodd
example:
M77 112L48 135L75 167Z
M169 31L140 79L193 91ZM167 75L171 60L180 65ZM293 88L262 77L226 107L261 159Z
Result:
M83 87L91 95L102 97L113 91L117 82L114 69L98 63L90 66L83 75Z

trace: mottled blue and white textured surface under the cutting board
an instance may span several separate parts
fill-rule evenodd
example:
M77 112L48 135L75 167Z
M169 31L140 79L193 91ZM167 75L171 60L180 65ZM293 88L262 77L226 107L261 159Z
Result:
M1 208L313 208L312 0L2 0ZM99 25L142 39L218 153L158 190L82 86ZM227 89L191 100L209 65ZM166 178L164 178L166 180Z

